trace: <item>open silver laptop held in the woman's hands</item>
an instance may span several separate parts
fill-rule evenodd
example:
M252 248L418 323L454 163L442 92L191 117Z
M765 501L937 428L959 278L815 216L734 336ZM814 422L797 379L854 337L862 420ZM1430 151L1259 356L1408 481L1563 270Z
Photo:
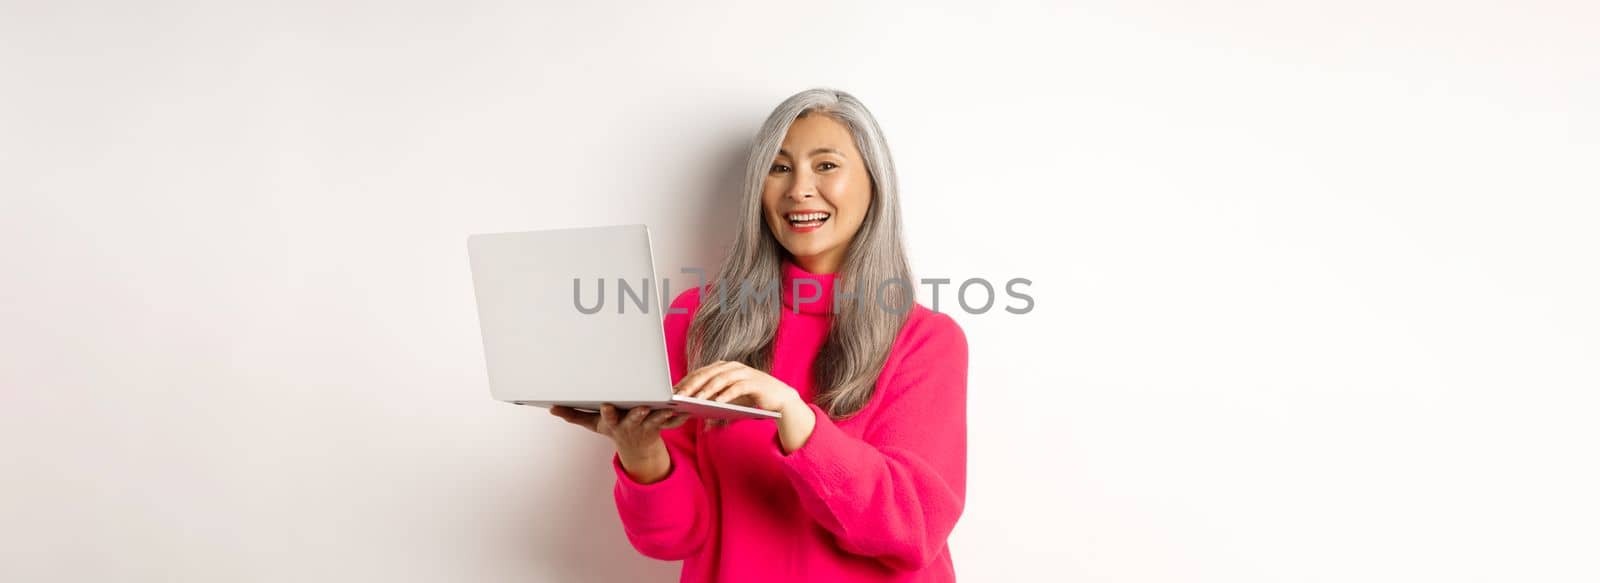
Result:
M774 412L672 394L656 279L643 224L467 237L490 394L518 405L648 405L706 418ZM699 285L693 277L672 288ZM669 292L677 293L677 292Z

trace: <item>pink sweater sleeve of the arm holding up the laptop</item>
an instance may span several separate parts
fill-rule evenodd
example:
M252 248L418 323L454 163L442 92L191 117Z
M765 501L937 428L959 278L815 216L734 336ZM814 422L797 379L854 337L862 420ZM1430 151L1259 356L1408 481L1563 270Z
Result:
M698 290L690 288L672 301L672 308L683 308L685 314L669 312L664 320L672 383L688 373L683 346L688 320L696 306ZM646 557L686 559L699 551L709 538L710 501L696 464L694 436L698 436L699 426L699 418L690 418L678 428L661 431L661 440L667 445L667 458L672 460L672 466L667 469L667 477L658 482L635 482L622 469L621 456L611 453L611 469L616 474L613 498L616 498L618 516L622 519L622 532L627 535L627 541Z

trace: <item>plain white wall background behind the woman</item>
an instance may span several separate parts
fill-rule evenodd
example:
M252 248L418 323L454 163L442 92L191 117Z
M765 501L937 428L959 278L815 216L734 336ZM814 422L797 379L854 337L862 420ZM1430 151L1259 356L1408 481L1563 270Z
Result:
M710 266L818 85L917 277L1034 280L963 580L1600 578L1595 3L0 6L0 580L675 580L466 235Z

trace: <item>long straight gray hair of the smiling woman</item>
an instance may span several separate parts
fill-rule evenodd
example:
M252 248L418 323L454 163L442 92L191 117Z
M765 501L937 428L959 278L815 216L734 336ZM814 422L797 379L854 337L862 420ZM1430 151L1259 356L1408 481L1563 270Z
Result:
M899 184L888 143L872 112L854 96L830 88L795 93L773 109L750 146L744 168L742 221L710 285L718 296L738 298L741 285L760 290L782 282L787 251L762 215L762 191L789 127L810 114L843 123L872 178L872 197L845 263L834 279L835 295L859 293L837 301L827 341L813 362L816 404L832 418L858 413L872 397L878 373L915 301L906 245L901 242ZM896 282L896 283L885 283ZM882 287L880 287L882 285ZM690 370L715 360L738 360L770 372L773 341L782 311L778 301L730 301L701 298L690 324Z

